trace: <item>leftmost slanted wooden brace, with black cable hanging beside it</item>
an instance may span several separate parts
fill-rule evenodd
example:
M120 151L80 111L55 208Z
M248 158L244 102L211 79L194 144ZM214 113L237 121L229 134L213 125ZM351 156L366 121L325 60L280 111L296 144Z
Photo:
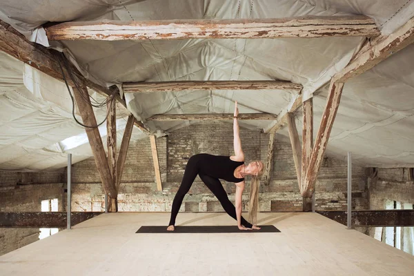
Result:
M85 130L95 163L97 164L97 170L99 172L99 176L101 177L105 192L110 195L111 199L116 199L118 195L117 189L115 188L115 183L112 179L112 175L110 174L101 135L99 134L98 128L95 127L97 126L97 120L95 119L95 114L93 113L92 106L90 105L88 89L84 83L80 83L80 86L80 90L76 87L73 88L73 94L75 95L83 124L90 126L89 128L85 128Z

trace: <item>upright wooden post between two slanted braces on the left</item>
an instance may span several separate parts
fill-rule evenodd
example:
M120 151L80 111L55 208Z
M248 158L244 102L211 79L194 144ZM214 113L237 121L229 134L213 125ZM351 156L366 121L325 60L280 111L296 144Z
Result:
M106 120L106 144L108 148L108 165L112 181L117 183L117 106L115 101L108 103L108 119ZM115 186L118 195L118 189ZM118 201L117 198L109 197L108 212L117 212Z

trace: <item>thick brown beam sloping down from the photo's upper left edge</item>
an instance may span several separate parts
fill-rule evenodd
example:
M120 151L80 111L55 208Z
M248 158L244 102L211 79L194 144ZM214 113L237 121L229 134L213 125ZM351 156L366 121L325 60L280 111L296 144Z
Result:
M85 83L86 86L92 88L93 90L99 92L103 96L111 96L115 93L115 99L119 103L121 103L121 108L124 107L126 109L126 102L124 99L121 98L117 88L109 89L103 86L99 86L99 84L94 83L81 74L79 70L75 66L72 65L69 61L66 61L66 64L69 64L68 68L63 66L65 61L65 57L63 57L59 52L56 50L48 49L44 46L41 46L37 43L32 43L14 30L8 23L0 20L0 50L6 52L8 55L18 59L19 61L23 61L24 63L36 68L37 70L53 77L55 79L59 79L59 81L63 81L63 75L61 72L61 67L59 66L59 62L62 65L63 73L66 76L66 80L68 81L69 86L75 87L75 83L69 77L70 72L72 75L75 76L76 79L79 79L82 83ZM129 111L128 111L129 112ZM146 132L147 134L150 133L144 124L141 122L137 122L137 127L139 127L142 131Z

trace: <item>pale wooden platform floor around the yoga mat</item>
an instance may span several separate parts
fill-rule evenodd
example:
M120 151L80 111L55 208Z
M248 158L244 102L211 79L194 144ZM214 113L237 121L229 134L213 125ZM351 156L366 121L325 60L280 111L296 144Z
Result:
M316 213L261 213L282 233L135 234L168 213L114 213L0 257L0 275L413 275L414 257ZM180 213L177 225L232 225Z

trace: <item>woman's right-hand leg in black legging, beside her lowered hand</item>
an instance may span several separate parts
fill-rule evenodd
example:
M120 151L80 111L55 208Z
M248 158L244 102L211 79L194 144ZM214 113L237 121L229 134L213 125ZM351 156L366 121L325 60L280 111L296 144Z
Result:
M213 192L215 197L219 199L221 206L223 206L224 210L230 217L233 217L233 219L237 220L236 215L236 208L231 203L230 199L227 197L226 190L224 190L223 185L221 185L221 182L219 179L210 177L208 175L199 175L201 180L206 184L206 186ZM248 223L244 217L242 217L242 225L247 228L252 228L252 224Z

